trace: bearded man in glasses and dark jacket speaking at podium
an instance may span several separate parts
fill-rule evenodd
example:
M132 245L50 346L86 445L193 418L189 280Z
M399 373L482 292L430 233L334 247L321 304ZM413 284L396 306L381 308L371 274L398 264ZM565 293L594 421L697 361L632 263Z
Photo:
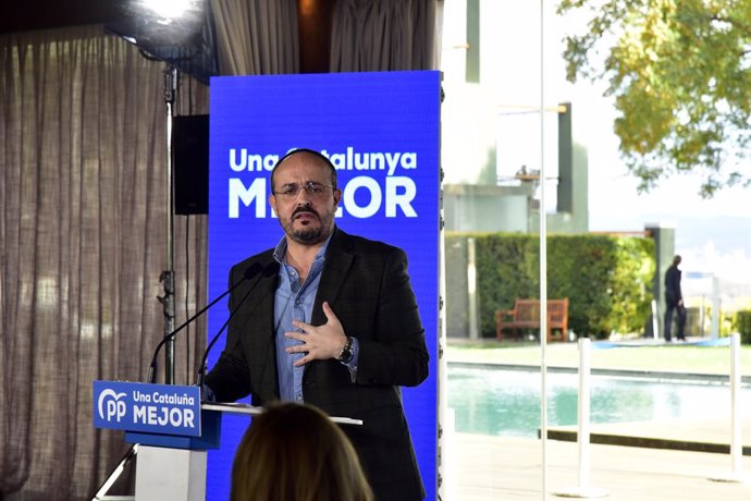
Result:
M230 296L226 346L206 377L219 401L248 394L312 404L362 420L343 430L378 501L424 498L399 387L428 377L428 350L407 256L334 223L342 198L328 158L307 149L271 173L269 203L284 229L275 248L230 272L263 269Z

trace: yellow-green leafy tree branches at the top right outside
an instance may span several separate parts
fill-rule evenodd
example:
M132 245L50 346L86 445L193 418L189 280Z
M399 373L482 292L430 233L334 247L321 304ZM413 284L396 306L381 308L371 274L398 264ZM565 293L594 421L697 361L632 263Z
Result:
M589 12L564 39L567 78L606 80L620 154L653 188L699 173L701 195L751 185L751 0L562 0Z

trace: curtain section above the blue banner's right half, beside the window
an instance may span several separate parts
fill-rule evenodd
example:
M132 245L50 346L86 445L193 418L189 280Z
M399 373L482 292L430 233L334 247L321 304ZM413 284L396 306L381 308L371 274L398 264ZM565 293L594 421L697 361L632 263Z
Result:
M438 69L436 0L337 0L331 71Z

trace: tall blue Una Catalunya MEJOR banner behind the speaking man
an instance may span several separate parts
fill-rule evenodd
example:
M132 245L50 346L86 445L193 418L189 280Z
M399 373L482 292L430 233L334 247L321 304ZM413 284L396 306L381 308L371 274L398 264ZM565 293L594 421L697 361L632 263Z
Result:
M435 499L436 485L440 95L439 72L211 80L209 296L226 289L232 265L284 234L268 204L279 158L300 147L328 156L343 191L336 224L396 245L409 259L431 361L428 380L403 395L427 499ZM217 311L209 337L227 316ZM210 354L209 367L220 352ZM229 498L232 459L247 426L247 418L224 418L221 450L209 453L210 499Z

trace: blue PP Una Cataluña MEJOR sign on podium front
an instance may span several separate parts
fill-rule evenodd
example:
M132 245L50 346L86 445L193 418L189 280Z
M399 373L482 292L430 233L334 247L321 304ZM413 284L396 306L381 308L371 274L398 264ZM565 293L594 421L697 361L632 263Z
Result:
M96 428L200 437L198 387L94 381Z

